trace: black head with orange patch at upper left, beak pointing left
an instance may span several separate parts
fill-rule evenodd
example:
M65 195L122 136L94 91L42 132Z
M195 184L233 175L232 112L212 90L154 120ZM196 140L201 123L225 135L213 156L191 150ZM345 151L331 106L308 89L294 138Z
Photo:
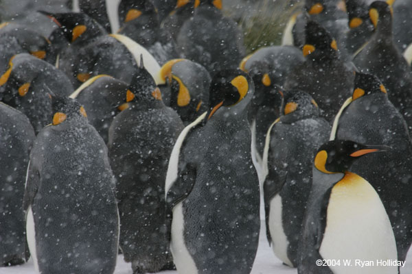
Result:
M91 40L106 35L107 32L97 21L84 13L50 13L39 11L49 17L60 27L66 39L76 45L84 45Z

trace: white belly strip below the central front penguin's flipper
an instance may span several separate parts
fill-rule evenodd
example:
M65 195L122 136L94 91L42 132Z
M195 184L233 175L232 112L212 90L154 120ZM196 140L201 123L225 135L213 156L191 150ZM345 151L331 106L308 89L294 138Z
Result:
M170 251L172 251L173 261L179 274L197 274L196 264L185 245L183 230L183 202L180 202L173 208Z

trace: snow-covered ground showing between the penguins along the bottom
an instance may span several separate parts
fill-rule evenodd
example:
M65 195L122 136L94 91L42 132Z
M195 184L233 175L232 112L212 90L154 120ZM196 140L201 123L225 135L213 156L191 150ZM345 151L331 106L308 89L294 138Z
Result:
M260 242L258 255L256 256L255 264L251 274L296 274L296 269L290 269L288 266L284 266L275 255L271 247L266 240L266 231L264 223L262 222L262 228L260 230ZM0 274L35 274L34 265L32 259L26 264L21 266L3 267L0 268ZM115 274L132 274L133 271L130 268L130 264L124 262L123 256L119 256L117 260L117 266ZM400 269L400 273L407 274L412 273L412 253L409 252L407 263L404 268ZM161 274L176 274L176 271L162 271ZM348 273L350 274L350 273Z

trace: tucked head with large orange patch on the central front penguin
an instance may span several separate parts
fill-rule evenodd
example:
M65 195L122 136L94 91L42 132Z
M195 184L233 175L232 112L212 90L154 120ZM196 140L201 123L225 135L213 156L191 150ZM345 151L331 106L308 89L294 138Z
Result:
M211 80L209 90L209 113L207 120L213 116L240 115L249 105L255 86L247 73L238 70L219 71ZM222 107L227 110L222 110Z

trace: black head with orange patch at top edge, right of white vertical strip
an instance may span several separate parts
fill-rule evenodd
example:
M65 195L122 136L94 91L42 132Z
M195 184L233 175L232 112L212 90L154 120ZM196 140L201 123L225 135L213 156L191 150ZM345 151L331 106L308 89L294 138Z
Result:
M119 19L128 23L139 18L143 14L157 16L157 8L149 0L122 0L119 3Z

